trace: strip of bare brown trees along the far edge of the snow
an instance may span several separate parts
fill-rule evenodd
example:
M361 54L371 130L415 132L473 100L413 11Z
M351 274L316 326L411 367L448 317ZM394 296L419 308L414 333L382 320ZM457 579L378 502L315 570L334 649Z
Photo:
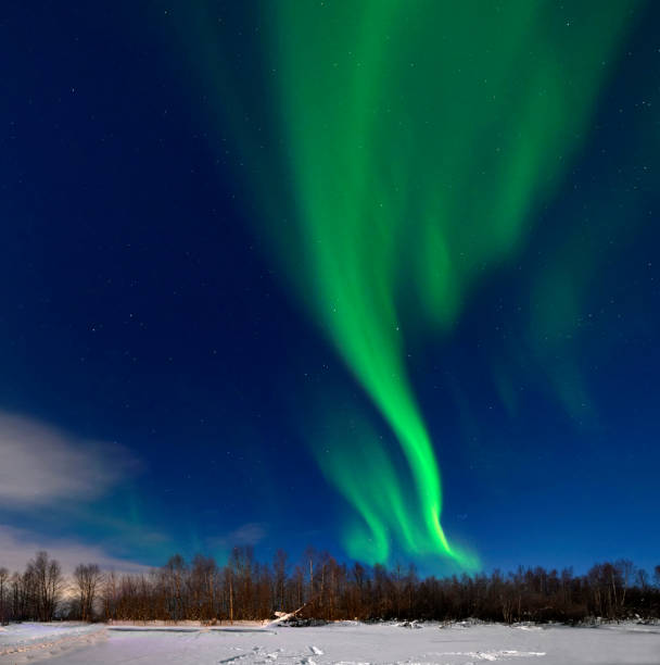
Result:
M1 552L0 552L1 564ZM660 565L649 574L627 560L570 568L520 567L450 577L420 577L414 566L338 563L307 550L290 563L278 551L269 564L250 548L233 550L227 565L202 555L173 556L148 574L103 572L81 564L65 578L60 564L38 552L23 573L0 567L0 622L81 620L208 624L268 619L401 619L563 622L660 617Z

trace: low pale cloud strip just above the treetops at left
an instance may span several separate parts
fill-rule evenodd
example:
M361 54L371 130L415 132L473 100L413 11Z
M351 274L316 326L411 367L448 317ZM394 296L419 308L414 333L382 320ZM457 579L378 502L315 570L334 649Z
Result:
M111 556L99 545L63 538L45 538L26 529L0 525L0 567L22 572L25 564L40 550L46 550L51 559L56 559L65 575L71 575L80 563L96 563L104 570L117 573L150 570L149 566Z

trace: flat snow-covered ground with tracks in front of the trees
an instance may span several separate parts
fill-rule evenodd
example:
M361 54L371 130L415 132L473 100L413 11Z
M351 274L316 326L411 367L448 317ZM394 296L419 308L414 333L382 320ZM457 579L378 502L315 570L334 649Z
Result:
M342 623L290 628L20 624L0 629L0 663L110 665L660 665L660 626L598 628Z

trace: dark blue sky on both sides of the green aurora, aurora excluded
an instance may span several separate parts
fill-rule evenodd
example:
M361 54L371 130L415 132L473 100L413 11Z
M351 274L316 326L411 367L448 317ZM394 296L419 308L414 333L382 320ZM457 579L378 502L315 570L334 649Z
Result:
M249 21L231 5L215 11ZM350 509L308 452L310 400L372 407L262 251L234 149L155 13L7 2L0 14L0 410L26 447L42 450L30 429L42 427L77 460L55 465L73 489L48 503L0 492L0 536L144 564L233 543L342 556ZM658 4L638 11L518 254L454 329L415 347L444 526L486 567L659 563L659 24ZM234 55L238 67L249 46ZM576 339L547 356L528 335L544 271L581 291ZM588 396L578 412L548 387L567 355ZM5 430L7 482L2 467L21 467ZM85 474L99 491L78 487Z

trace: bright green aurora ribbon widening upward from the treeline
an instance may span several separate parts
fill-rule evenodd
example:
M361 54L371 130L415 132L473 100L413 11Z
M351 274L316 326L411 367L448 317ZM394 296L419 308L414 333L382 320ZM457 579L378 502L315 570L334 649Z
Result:
M194 21L204 46L189 51L252 174L259 234L407 461L361 417L353 437L314 446L358 515L346 550L369 563L396 549L473 569L477 557L441 526L441 474L404 332L409 343L449 331L475 283L520 249L585 138L632 5L257 7L259 81L223 67L229 38L212 13ZM264 149L256 128L267 125L279 138Z

